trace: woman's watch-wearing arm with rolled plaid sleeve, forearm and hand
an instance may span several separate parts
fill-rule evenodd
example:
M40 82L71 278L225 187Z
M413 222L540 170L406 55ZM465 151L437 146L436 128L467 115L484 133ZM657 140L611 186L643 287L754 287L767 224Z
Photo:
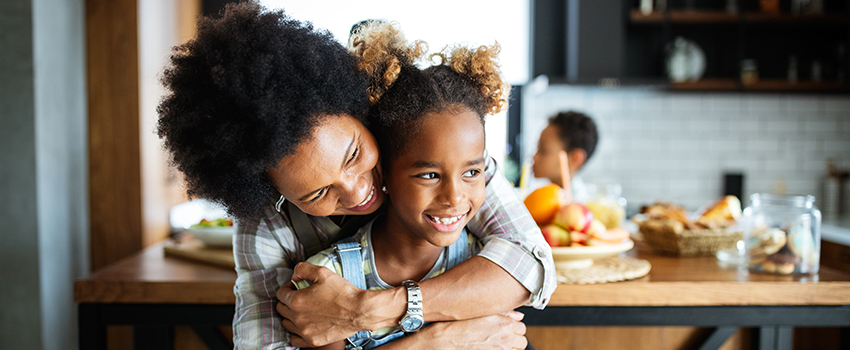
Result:
M523 304L542 308L555 290L551 249L528 210L492 159L485 176L485 203L468 226L484 248L478 256L420 283L426 321L494 315ZM293 280L299 279L313 282L311 293L284 286L277 294L284 326L298 334L292 337L296 346L328 344L358 330L394 326L406 310L407 293L402 288L359 290L333 272L309 264L296 266Z

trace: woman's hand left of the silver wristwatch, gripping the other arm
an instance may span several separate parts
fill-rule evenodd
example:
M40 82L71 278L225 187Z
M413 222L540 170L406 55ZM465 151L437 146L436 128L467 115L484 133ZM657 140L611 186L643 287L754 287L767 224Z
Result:
M364 329L389 326L404 313L407 294L402 295L401 288L365 291L325 267L308 263L295 266L292 280L313 283L302 290L294 290L288 283L277 291L280 302L276 309L295 347L327 345ZM377 297L389 298L378 302ZM393 298L401 299L388 302ZM397 317L378 316L382 314Z

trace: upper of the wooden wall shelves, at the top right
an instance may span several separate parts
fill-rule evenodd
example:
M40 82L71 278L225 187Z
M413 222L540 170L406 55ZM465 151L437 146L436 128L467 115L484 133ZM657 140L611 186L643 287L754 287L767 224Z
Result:
M662 24L665 21L676 24L732 24L732 23L788 23L788 24L824 24L838 25L850 22L845 14L801 14L789 13L730 13L726 11L688 11L670 10L667 12L653 11L644 14L638 9L632 9L629 15L634 24Z

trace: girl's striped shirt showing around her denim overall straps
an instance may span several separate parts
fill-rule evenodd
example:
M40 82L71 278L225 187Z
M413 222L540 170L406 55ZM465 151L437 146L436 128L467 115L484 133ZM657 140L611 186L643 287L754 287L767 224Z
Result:
M363 273L366 275L366 289L368 290L383 290L395 288L394 286L389 285L384 282L381 277L378 275L377 268L375 267L375 251L372 249L372 224L375 220L370 221L368 224L360 228L357 233L351 238L354 239L355 242L360 243L360 254L363 259ZM467 241L466 244L466 257L473 257L478 252L481 251L481 242L475 238L474 235L468 233L466 229L461 232L460 237L458 239L465 239ZM436 277L443 272L446 272L448 267L448 247L443 248L443 252L440 253L440 257L437 258L437 262L434 263L434 266L431 267L431 270L428 271L428 274L425 275L422 280L427 280L429 278ZM339 254L337 254L333 248L325 249L316 255L313 255L309 259L307 259L308 263L317 266L324 266L336 274L342 276L342 263L339 260ZM300 288L299 288L300 289ZM381 329L377 329L372 331L372 337L375 339L382 338L387 334L393 332L401 332L398 326L394 327L385 327Z

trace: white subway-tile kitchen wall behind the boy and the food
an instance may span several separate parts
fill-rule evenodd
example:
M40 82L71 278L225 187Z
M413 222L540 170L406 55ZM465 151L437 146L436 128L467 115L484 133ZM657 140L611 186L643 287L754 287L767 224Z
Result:
M620 183L630 211L657 200L695 210L723 194L726 172L744 174L745 197L820 196L828 158L850 168L846 95L610 90L540 81L526 90L524 159L534 154L549 116L584 112L596 121L600 141L579 175L585 182Z

